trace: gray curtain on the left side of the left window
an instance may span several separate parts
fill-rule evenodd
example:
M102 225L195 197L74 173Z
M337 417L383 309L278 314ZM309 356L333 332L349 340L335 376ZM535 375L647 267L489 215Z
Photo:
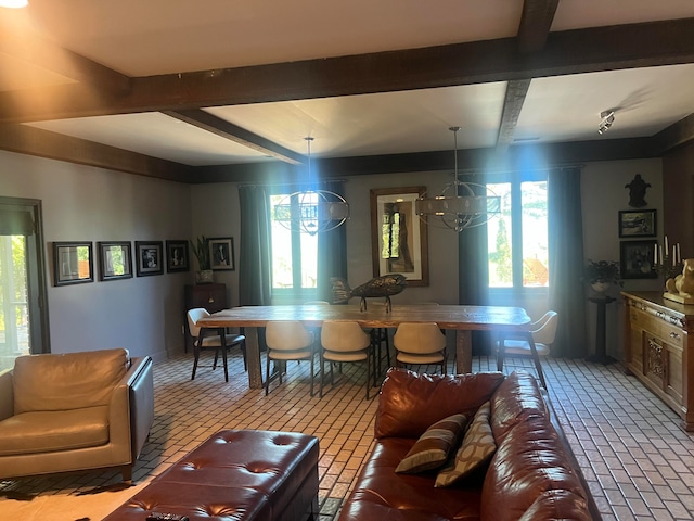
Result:
M270 223L264 187L239 188L241 244L239 302L242 306L271 304Z

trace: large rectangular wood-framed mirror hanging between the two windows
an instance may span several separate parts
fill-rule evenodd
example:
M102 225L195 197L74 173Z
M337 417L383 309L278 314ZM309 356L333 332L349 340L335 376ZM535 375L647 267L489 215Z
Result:
M414 211L425 187L371 190L373 276L400 274L408 285L429 285L427 228Z

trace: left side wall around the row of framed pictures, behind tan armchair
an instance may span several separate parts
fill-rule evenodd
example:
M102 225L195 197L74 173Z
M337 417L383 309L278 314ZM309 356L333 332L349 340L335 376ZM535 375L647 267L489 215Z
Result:
M183 284L191 272L99 282L98 241L191 237L188 185L0 152L0 195L42 201L51 351L182 350ZM92 241L94 282L53 285L53 241ZM133 264L134 271L134 264Z

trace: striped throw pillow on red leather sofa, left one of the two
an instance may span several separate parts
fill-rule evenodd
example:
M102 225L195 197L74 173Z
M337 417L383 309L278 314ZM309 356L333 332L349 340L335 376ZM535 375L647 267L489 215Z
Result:
M415 473L440 467L455 447L466 423L465 415L453 415L437 421L420 436L395 471Z

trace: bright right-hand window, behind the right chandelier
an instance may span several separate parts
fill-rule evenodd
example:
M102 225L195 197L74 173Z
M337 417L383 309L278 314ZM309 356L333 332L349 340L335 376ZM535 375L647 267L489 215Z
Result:
M487 225L489 287L547 288L547 174L487 186L501 198L501 215Z

